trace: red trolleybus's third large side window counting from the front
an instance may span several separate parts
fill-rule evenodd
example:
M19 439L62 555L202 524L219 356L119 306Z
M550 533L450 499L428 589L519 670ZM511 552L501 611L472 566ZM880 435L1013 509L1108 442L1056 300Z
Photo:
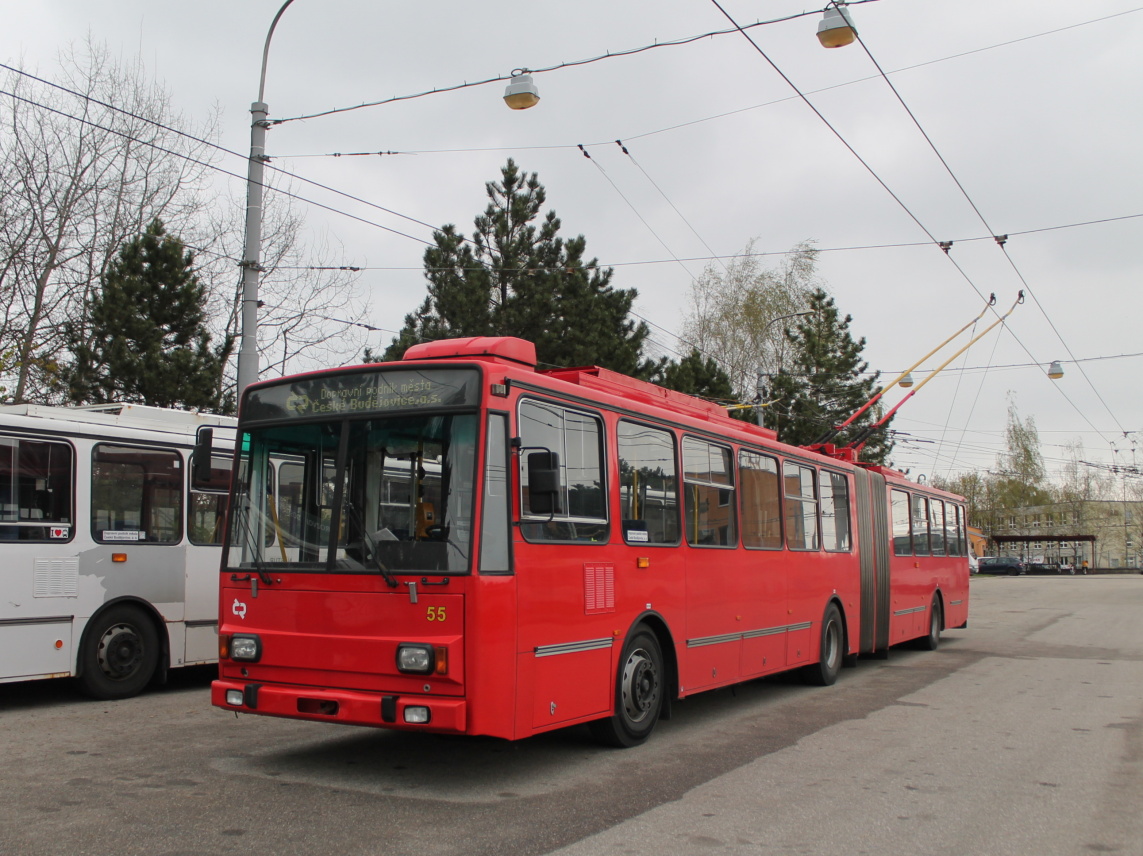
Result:
M693 437L682 440L687 543L734 546L734 459L730 450Z

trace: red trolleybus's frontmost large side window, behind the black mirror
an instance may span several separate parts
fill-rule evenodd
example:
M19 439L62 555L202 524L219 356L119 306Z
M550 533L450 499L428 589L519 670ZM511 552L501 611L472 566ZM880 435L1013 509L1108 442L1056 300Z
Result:
M528 541L606 543L607 496L604 485L604 430L589 414L539 401L520 402L520 533ZM558 458L558 510L529 506L528 458L531 451Z

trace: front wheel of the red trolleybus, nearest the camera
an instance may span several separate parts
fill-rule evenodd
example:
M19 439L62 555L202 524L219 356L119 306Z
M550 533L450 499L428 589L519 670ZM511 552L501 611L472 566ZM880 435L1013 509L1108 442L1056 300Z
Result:
M607 746L626 749L646 741L663 710L666 672L658 640L639 625L623 646L615 675L615 713L591 722L591 734Z

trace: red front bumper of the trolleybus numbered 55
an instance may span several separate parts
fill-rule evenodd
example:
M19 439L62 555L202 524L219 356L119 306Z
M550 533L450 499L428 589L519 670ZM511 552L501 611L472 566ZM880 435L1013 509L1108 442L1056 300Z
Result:
M375 728L464 734L466 727L466 703L463 698L288 687L223 679L210 685L210 703L239 713Z

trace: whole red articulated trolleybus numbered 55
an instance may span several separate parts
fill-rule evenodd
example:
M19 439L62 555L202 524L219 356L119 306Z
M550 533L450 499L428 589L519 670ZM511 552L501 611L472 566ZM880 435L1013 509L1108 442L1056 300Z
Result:
M517 338L254 384L235 455L226 710L631 746L968 619L960 497Z

